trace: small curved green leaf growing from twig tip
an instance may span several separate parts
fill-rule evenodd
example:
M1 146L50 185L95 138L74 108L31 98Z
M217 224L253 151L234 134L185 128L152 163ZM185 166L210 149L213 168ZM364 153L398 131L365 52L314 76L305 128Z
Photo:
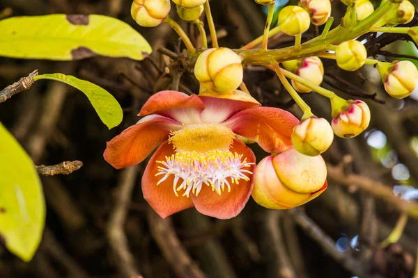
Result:
M110 95L107 90L100 88L98 85L65 74L41 74L33 78L34 81L39 79L51 79L72 85L72 87L84 92L91 102L91 105L93 105L95 111L98 113L100 120L102 120L109 129L121 124L123 119L121 106L114 96Z

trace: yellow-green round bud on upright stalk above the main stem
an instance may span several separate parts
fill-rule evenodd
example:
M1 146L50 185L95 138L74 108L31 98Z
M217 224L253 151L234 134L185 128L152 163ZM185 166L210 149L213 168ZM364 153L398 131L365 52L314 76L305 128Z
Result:
M309 13L298 6L287 6L279 13L279 26L283 33L300 35L307 31L311 18Z

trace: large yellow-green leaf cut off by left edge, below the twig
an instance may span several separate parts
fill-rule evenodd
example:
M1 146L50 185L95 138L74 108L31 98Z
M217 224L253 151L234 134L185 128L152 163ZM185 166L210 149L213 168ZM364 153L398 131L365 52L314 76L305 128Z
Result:
M45 199L35 165L0 123L0 238L30 261L45 227Z

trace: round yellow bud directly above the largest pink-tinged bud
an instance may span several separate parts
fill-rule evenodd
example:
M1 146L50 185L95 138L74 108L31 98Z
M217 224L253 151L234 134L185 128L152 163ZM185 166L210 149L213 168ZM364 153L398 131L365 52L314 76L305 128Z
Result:
M334 140L330 123L324 118L309 117L293 128L293 147L306 156L318 156L325 152Z

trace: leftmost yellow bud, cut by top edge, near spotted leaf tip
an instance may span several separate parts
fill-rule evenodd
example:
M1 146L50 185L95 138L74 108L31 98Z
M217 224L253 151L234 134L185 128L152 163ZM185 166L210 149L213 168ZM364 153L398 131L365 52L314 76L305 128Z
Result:
M140 26L155 27L167 17L170 9L170 0L134 0L131 15Z

